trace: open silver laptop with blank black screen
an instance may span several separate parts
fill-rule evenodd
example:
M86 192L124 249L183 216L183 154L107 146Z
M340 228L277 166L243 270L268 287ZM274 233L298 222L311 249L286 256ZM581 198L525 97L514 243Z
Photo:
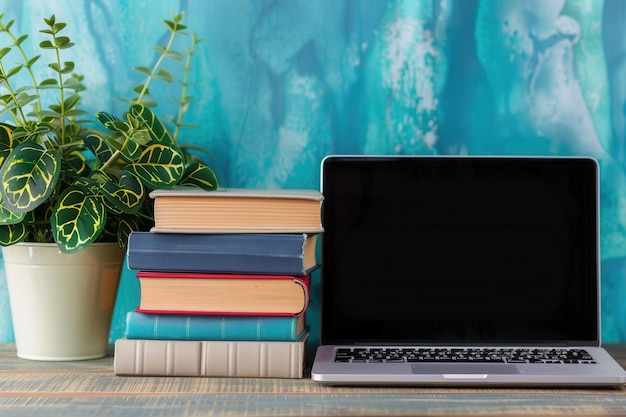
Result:
M326 157L312 379L624 384L600 343L598 177L585 157Z

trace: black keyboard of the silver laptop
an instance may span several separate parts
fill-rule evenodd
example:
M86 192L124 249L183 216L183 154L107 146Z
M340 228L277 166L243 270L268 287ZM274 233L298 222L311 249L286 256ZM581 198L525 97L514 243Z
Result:
M517 348L338 348L335 362L343 363L554 363L593 364L584 349Z

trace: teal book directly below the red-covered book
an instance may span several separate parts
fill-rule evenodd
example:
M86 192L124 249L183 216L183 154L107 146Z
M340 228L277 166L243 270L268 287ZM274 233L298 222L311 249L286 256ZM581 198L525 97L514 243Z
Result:
M210 316L130 311L126 315L125 336L150 340L294 341L305 330L304 315Z

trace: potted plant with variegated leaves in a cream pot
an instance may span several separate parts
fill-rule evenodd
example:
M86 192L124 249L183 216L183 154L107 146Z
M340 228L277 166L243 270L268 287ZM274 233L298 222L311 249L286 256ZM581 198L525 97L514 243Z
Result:
M214 172L177 143L198 42L190 35L185 53L173 48L184 34L183 18L164 21L169 40L156 47L152 68L137 68L145 82L127 100L128 111L90 120L80 108L83 78L63 60L74 45L63 34L66 25L54 15L44 19L42 55L29 57L28 36L14 34L13 21L0 14L0 35L8 40L0 48L0 245L20 357L104 356L128 235L152 225L148 193L177 185L217 188ZM54 77L38 81L35 68L46 53ZM9 54L22 62L7 67ZM150 110L156 103L149 89L154 80L173 81L163 66L168 60L184 62L170 129ZM15 85L23 79L30 83ZM52 104L44 104L43 93L53 93ZM97 281L85 276L92 272Z

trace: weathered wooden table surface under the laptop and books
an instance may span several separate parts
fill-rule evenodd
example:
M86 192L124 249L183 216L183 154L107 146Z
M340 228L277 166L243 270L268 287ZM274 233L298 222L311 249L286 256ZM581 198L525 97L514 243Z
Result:
M622 389L326 387L310 379L118 377L111 356L18 359L0 344L0 416L626 415ZM607 346L626 365L626 345Z

